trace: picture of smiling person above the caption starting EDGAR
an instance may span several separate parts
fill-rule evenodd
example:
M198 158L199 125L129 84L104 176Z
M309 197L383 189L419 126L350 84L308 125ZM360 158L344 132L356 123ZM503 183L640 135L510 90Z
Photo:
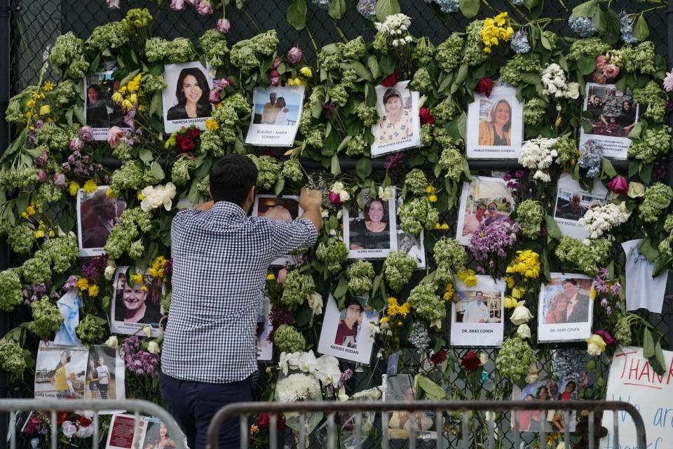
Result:
M119 273L115 294L115 321L158 324L161 319L161 287L127 281Z

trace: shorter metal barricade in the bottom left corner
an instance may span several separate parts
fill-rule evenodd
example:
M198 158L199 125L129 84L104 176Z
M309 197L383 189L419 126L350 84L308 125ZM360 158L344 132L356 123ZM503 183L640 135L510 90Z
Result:
M43 411L50 410L51 412L51 448L56 449L58 443L58 425L57 412L69 412L71 410L81 410L93 412L93 442L92 448L98 449L98 441L100 440L99 413L102 411L117 411L126 410L127 412L135 413L135 429L134 435L138 429L140 422L140 415L149 415L157 417L166 429L169 435L175 435L173 438L175 446L173 449L185 449L184 439L182 438L182 431L178 427L173 417L163 408L157 406L155 403L149 401L139 401L136 399L128 399L125 401L105 401L101 399L0 399L0 412L9 412L10 415L10 449L16 449L16 412L29 411Z

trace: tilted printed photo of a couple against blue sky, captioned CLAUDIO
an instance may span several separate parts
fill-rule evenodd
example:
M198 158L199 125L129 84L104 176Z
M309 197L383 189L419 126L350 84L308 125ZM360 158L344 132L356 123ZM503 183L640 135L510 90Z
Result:
M245 145L291 147L304 108L304 86L256 87Z

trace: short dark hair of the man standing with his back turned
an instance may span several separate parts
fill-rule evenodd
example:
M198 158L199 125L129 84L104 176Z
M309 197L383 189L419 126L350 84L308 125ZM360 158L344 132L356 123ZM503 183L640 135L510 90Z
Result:
M229 201L243 206L250 187L257 184L257 166L252 159L240 154L228 154L217 159L210 168L212 200Z

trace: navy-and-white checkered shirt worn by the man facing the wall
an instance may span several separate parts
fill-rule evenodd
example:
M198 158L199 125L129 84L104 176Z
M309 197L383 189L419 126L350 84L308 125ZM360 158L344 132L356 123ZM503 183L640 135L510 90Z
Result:
M268 266L317 239L311 220L247 217L225 201L207 211L177 213L163 373L210 383L238 382L254 373L257 311Z

